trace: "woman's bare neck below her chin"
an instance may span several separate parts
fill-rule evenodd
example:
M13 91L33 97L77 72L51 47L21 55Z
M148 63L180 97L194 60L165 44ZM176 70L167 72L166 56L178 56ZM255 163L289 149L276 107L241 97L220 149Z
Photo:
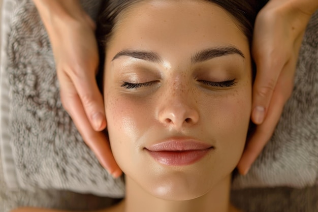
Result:
M156 198L126 177L125 212L229 212L231 177L227 177L205 195L192 200L170 201Z

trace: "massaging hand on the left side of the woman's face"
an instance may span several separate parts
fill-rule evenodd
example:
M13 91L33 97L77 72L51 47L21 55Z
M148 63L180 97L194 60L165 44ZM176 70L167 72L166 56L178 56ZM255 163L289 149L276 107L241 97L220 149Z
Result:
M102 131L106 118L95 79L99 64L95 24L78 0L34 0L49 34L60 97L86 144L115 177L121 175Z

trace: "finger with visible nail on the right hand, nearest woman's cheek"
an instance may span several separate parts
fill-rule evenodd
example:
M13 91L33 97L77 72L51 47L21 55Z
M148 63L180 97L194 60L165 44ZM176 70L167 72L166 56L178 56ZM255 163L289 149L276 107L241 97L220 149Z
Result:
M276 55L275 49L263 49L263 51L266 52L255 53L257 74L252 95L251 119L258 125L264 121L278 77L287 62L287 55Z

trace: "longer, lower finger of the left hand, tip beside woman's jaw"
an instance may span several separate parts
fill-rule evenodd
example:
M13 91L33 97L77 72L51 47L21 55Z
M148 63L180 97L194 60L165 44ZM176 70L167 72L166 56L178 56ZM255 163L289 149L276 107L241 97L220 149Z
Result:
M120 176L122 172L113 158L106 135L92 129L72 82L66 78L64 78L64 80L60 79L59 81L62 82L60 88L61 100L64 101L68 99L66 110L72 117L85 143L110 174L114 177Z

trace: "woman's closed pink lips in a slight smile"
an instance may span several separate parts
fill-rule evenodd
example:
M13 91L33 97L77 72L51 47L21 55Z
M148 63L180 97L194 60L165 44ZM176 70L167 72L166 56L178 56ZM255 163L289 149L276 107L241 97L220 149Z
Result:
M154 160L161 164L182 166L199 161L213 148L197 140L175 139L157 143L145 149Z

